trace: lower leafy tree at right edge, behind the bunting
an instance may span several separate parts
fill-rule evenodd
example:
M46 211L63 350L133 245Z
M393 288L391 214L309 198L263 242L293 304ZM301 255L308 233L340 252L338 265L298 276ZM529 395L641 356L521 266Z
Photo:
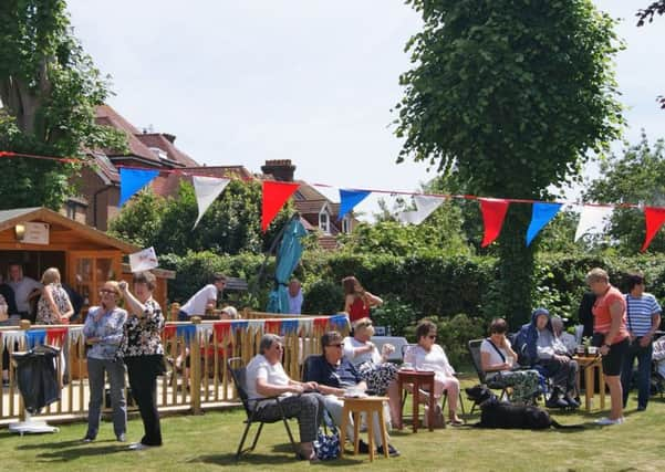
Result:
M665 207L665 140L658 139L652 146L643 133L638 144L626 143L621 155L601 162L600 176L590 183L584 200ZM616 208L607 232L621 253L637 253L646 233L644 212L637 208ZM648 251L665 251L662 231Z

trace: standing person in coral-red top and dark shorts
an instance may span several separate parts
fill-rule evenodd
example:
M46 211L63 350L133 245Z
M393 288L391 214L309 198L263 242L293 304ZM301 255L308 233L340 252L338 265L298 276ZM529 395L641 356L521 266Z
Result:
M595 294L593 313L594 336L603 337L600 353L603 356L603 374L610 387L612 409L609 418L601 418L599 424L621 424L623 417L623 391L621 388L621 367L628 349L626 328L626 302L621 292L610 284L607 272L600 268L586 274L586 284Z

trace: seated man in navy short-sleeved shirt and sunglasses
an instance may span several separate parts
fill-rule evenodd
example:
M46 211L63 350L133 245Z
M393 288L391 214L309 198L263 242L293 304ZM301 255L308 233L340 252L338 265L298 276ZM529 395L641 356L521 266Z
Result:
M340 397L345 395L364 395L367 384L362 379L353 364L344 357L344 340L337 332L328 332L321 336L321 356L311 356L308 358L303 380L319 385L319 391L324 395L323 401L325 409L333 417L337 424L342 424L342 411L344 401ZM353 421L350 420L347 437L353 440ZM374 441L377 444L380 454L383 454L384 444L381 437L378 418L373 415L372 424L374 430ZM360 452L368 452L368 445L360 441ZM342 444L344 447L344 444ZM399 455L393 445L388 444L388 454L391 457Z

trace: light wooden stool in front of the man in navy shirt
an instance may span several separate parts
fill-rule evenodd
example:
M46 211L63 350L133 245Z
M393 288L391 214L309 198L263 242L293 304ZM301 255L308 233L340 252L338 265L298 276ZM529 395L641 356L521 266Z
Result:
M387 397L344 398L344 410L342 411L342 434L340 438L340 458L344 457L344 442L346 441L346 426L349 413L353 415L353 454L357 454L360 447L361 413L367 413L367 444L370 445L370 461L374 461L374 413L378 415L378 427L381 428L381 440L383 442L383 454L388 457L388 433L383 419L383 402Z

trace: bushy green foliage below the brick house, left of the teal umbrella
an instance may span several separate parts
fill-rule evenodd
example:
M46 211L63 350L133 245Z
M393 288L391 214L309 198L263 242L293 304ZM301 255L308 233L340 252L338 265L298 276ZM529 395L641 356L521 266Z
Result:
M260 253L269 249L287 222L285 206L263 233L261 185L231 180L193 230L198 214L194 187L183 181L176 197L143 191L110 222L110 233L158 254L211 251L216 254Z

